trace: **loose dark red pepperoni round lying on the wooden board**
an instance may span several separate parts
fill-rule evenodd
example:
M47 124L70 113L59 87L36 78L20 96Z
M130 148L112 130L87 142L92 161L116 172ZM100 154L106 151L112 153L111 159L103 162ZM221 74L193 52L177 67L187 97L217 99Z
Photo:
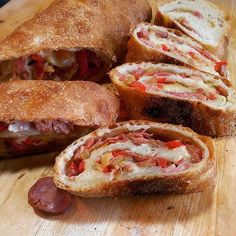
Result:
M72 205L71 195L58 189L52 177L39 179L30 188L28 201L33 208L51 214L62 214Z

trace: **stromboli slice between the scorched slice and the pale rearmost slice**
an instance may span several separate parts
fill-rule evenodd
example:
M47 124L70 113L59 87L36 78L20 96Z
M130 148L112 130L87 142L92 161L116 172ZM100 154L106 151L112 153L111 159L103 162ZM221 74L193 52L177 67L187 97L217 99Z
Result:
M153 61L185 65L229 78L228 63L220 61L201 44L179 30L139 24L128 42L127 62Z

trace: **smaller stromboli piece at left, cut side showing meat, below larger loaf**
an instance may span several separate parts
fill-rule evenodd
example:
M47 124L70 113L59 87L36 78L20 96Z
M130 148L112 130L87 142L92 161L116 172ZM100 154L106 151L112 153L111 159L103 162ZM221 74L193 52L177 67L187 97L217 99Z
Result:
M85 81L6 82L0 97L0 158L61 151L119 112L115 94Z

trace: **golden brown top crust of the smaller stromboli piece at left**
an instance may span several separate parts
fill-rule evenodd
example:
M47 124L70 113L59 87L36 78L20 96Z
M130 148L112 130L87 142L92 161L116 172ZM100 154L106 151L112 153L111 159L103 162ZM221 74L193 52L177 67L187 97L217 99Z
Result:
M12 81L0 84L0 121L62 120L80 126L112 124L119 99L85 81Z

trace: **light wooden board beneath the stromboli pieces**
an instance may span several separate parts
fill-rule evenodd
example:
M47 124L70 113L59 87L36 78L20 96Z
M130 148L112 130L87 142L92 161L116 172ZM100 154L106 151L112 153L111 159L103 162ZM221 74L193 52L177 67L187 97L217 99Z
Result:
M0 40L52 0L12 0L0 10ZM156 1L151 1L153 10ZM160 1L158 2L160 3ZM233 17L236 0L217 1ZM229 61L236 82L236 18ZM1 235L236 235L236 138L215 140L217 185L188 195L80 199L65 215L45 216L27 203L30 186L52 173L56 154L0 161Z

